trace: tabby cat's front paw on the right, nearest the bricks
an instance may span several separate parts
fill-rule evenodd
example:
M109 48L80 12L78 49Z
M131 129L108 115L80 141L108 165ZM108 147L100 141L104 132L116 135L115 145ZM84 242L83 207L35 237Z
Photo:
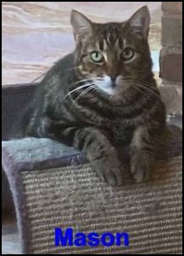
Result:
M148 181L153 170L154 159L146 155L134 154L130 160L130 172L136 183Z

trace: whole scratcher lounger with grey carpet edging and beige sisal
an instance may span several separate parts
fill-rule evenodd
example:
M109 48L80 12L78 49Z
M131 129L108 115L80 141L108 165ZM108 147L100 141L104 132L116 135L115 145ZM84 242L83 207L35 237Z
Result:
M166 158L158 154L149 183L127 180L120 188L101 182L79 152L39 142L42 157L35 154L33 141L26 150L24 141L3 141L3 169L24 253L182 253L181 136L167 145ZM72 227L74 233L127 232L129 247L55 247L55 227Z

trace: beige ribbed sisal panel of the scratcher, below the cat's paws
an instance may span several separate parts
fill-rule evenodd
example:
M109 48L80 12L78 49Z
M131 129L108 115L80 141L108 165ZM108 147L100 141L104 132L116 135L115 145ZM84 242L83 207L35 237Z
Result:
M29 253L181 253L181 156L159 162L148 184L111 188L89 164L21 172ZM129 247L55 247L55 227L128 232Z

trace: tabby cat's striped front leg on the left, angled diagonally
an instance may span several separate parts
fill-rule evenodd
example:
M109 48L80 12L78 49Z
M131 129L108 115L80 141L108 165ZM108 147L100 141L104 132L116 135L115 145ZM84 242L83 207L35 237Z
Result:
M122 167L117 152L101 131L92 127L77 130L73 138L73 146L87 154L87 159L98 175L108 184L122 184Z

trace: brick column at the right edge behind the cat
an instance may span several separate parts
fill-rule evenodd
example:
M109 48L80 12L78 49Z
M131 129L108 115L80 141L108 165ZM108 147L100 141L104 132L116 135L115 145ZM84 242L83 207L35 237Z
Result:
M182 2L162 2L160 77L168 113L182 113Z

